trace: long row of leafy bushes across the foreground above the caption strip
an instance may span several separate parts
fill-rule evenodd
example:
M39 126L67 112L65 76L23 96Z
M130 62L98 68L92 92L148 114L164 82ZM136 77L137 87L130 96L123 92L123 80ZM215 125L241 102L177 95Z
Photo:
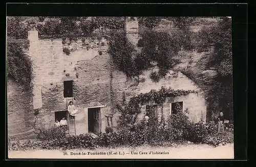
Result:
M57 129L51 129L41 133L39 140L17 141L8 139L9 150L35 150L35 149L95 149L98 147L137 147L171 146L173 142L188 140L196 144L202 143L211 146L221 146L233 142L233 133L225 131L216 133L215 124L191 124L184 113L172 114L168 120L168 126L159 126L155 112L149 110L150 120L148 125L143 121L118 131L106 130L93 138L90 134L77 136L62 136L56 134ZM176 120L174 120L176 119ZM59 128L57 131L61 130ZM107 129L107 128L106 128Z

